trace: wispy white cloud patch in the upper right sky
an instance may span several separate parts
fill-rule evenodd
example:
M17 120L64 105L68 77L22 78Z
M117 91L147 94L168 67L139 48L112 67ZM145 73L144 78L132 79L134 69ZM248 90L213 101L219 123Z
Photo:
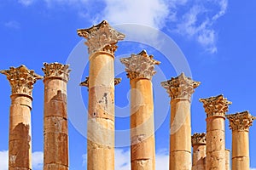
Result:
M210 4L210 5L209 5ZM195 38L210 53L217 52L218 35L212 26L216 21L226 13L228 0L208 0L206 3L201 1L197 3L187 2L188 12L180 14L177 22L172 22L175 26L175 32ZM180 9L176 8L177 11Z

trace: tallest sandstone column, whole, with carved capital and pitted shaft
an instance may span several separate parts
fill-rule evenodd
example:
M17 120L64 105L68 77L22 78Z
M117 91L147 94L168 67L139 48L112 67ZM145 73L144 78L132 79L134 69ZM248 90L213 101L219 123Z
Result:
M114 169L114 73L116 43L125 38L103 20L97 26L78 30L87 39L90 54L87 169Z

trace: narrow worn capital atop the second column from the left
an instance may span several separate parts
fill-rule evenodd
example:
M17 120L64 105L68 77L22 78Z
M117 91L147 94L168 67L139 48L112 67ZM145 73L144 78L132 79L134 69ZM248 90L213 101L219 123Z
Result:
M44 71L44 78L60 78L61 80L69 80L69 65L62 65L60 63L44 63L42 70Z

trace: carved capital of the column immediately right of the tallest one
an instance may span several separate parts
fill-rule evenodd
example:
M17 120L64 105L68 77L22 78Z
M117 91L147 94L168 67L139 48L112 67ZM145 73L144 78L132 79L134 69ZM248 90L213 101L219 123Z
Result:
M131 57L120 59L126 66L125 71L130 79L147 78L152 79L156 71L154 65L160 65L160 61L153 59L153 55L148 55L146 50L139 54L131 54Z

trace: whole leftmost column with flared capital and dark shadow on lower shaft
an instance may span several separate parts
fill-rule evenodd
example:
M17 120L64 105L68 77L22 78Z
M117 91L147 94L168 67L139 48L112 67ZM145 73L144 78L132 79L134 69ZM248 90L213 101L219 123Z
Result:
M12 88L9 109L9 170L32 169L31 110L33 84L42 79L25 65L0 71Z

